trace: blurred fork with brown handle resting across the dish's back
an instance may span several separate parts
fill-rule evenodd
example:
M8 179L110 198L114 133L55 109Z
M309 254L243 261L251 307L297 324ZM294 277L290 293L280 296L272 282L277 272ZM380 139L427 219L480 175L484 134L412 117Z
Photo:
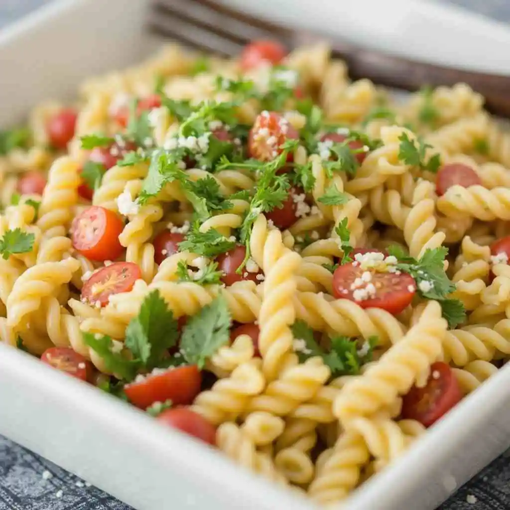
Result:
M214 0L157 0L148 19L151 32L223 57L240 53L254 39L276 39L288 48L323 41L309 31L294 30L245 14ZM510 78L465 71L396 57L345 41L331 43L331 55L343 59L353 80L368 78L378 85L418 90L423 85L464 82L486 98L486 107L510 117Z

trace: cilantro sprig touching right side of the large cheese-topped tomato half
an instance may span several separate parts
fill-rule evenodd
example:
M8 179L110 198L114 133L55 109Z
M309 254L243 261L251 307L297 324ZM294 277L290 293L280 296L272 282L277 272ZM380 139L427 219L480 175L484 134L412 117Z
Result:
M448 297L454 292L455 284L444 271L447 248L441 246L432 250L427 249L419 260L408 256L399 246L390 246L388 253L397 258L397 269L410 274L415 279L418 295L439 302L443 317L448 321L450 328L464 322L466 310L463 303ZM425 284L420 286L422 282Z

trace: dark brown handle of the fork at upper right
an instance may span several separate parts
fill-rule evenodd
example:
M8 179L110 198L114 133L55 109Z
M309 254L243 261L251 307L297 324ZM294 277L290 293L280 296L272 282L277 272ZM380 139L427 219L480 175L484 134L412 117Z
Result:
M335 53L347 62L354 80L368 78L380 85L411 91L424 85L464 82L486 98L488 110L510 117L510 77L415 62L360 48L343 48Z

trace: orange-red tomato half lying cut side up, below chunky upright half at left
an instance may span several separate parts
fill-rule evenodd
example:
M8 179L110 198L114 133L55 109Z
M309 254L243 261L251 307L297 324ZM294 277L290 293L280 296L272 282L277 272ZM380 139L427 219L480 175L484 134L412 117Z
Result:
M133 262L114 262L92 274L83 286L82 298L104 306L112 294L129 292L141 277L140 268Z

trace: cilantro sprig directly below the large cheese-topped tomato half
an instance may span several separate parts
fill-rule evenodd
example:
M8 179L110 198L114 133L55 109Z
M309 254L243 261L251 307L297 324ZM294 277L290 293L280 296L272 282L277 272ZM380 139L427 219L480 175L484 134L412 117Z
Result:
M349 337L334 336L330 338L329 351L321 347L314 338L313 329L304 321L292 325L292 334L297 342L304 341L304 348L297 349L299 361L320 356L331 370L331 377L340 375L358 375L361 367L372 361L372 353L377 345L377 337L370 337L359 348L358 342Z

